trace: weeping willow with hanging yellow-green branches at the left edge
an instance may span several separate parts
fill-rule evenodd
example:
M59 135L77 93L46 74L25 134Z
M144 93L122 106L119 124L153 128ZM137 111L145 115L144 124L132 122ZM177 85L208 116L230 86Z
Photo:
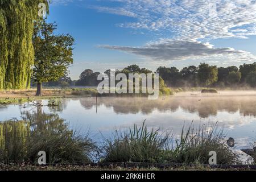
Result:
M0 0L0 90L30 86L39 3L48 13L48 0Z

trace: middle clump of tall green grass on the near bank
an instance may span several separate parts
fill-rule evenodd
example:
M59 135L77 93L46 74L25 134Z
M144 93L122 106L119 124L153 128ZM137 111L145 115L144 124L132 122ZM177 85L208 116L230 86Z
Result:
M116 131L113 139L106 139L104 162L161 162L168 139L159 130L147 130L145 122L129 131Z

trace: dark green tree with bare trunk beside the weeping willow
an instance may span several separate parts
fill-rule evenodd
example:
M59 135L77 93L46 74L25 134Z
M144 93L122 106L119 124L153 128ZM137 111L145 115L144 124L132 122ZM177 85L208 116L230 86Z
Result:
M42 96L42 83L57 81L68 74L73 63L73 42L71 35L55 35L55 23L41 20L35 23L33 44L35 64L32 78L37 84L36 96Z

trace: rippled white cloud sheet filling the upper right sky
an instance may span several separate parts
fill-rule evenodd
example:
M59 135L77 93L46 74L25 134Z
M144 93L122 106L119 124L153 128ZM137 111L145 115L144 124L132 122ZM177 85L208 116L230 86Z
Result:
M164 30L184 39L256 35L255 0L112 0L122 7L95 7L113 14L131 15L137 21L122 27ZM243 27L246 32L234 32Z

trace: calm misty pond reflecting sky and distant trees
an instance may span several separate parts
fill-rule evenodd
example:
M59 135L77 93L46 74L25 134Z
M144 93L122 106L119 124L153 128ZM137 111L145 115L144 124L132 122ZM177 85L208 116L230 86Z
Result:
M41 101L47 105L47 101ZM170 131L179 137L185 125L218 122L226 137L236 140L237 148L256 141L256 92L222 92L220 94L182 93L158 100L147 97L65 98L60 107L24 105L0 106L0 121L22 119L24 113L56 113L71 129L88 133L100 141L115 129L128 129L146 119L148 127Z

